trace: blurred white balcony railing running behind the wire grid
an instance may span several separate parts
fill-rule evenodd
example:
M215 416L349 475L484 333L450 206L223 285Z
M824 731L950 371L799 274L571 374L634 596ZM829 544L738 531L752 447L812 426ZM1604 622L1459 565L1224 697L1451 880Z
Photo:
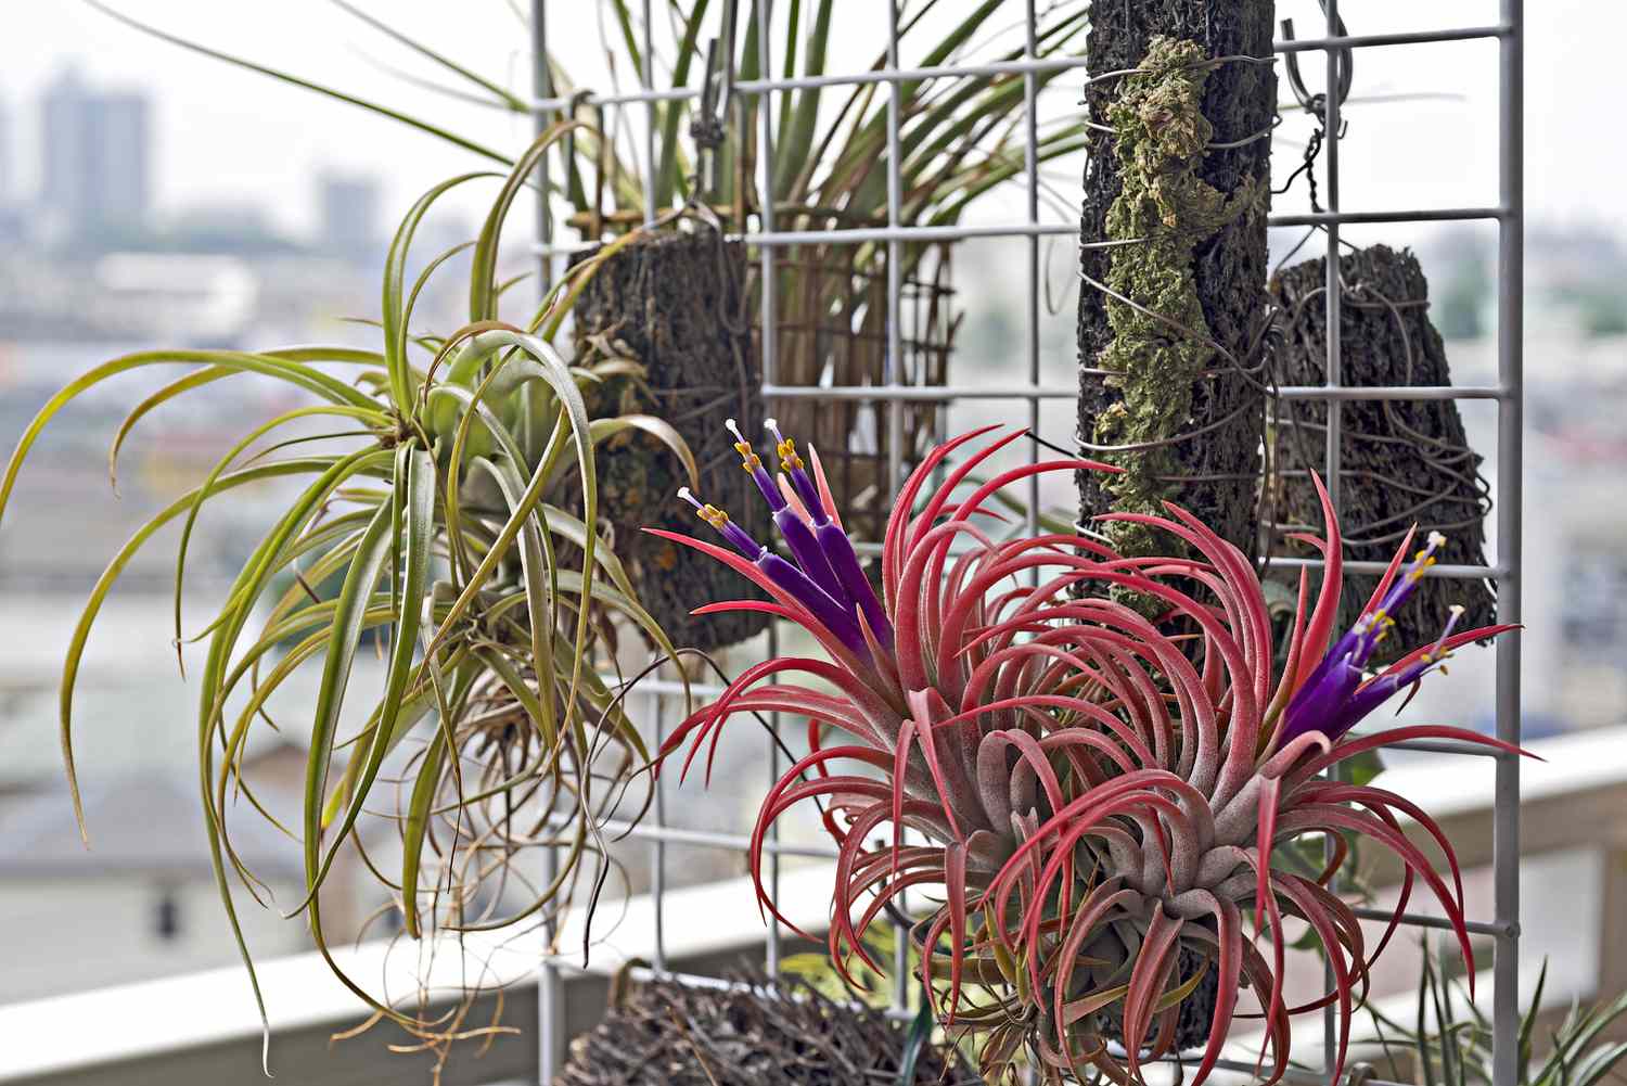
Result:
M1542 954L1544 943L1585 938L1594 952L1572 954L1557 964L1549 998L1590 998L1627 988L1627 939L1612 925L1627 917L1627 726L1559 736L1531 744L1542 762L1528 762L1523 775L1521 866L1538 858L1593 850L1601 853L1598 902L1546 902L1542 887L1528 887L1524 948ZM1495 762L1489 759L1420 759L1388 770L1380 782L1427 801L1458 848L1464 868L1492 860L1492 796ZM1533 871L1534 873L1534 871ZM823 926L830 909L830 869L822 861L786 865L779 900L789 918L805 930ZM1471 909L1472 902L1471 879ZM674 967L714 972L742 952L761 946L763 922L750 884L731 879L664 896L665 948ZM1564 907L1570 913L1564 913ZM1580 909L1580 913L1578 913ZM595 918L591 970L581 972L582 917L573 915L561 935L566 1029L574 1034L597 1021L605 1003L607 979L623 964L652 957L654 904L639 896L620 912L604 905ZM1590 915L1594 931L1554 931L1547 923L1560 915ZM620 923L608 925L620 915ZM1565 920L1562 923L1573 923ZM1544 926L1547 925L1547 926ZM1542 936L1551 936L1544 939ZM26 938L8 933L8 938ZM459 1083L537 1081L535 962L539 936L469 938L467 957L446 943L430 970L430 983L444 998L460 982L464 962L486 969L488 982L504 990L503 1021L526 1031L524 1037L498 1039L480 1058L465 1045L447 1068L446 1086ZM1559 957L1559 956L1555 956ZM1596 957L1596 970L1590 970ZM337 954L353 977L376 992L412 990L417 975L413 948L371 943ZM86 962L63 961L63 969ZM1524 977L1534 979L1536 961ZM1590 975L1591 972L1591 975ZM317 954L296 954L262 962L260 980L272 1013L272 1071L281 1083L299 1086L360 1086L413 1075L413 1057L384 1050L387 1029L355 1040L330 1044L335 1031L361 1019L360 1005L327 970ZM1489 977L1485 977L1489 980ZM1487 988L1490 985L1485 985ZM495 1003L486 998L470 1023L490 1021ZM1308 1023L1319 1027L1318 1023ZM1248 1042L1241 1039L1240 1052ZM247 1083L259 1076L260 1026L241 969L216 969L166 980L101 988L75 995L0 1005L0 1083L7 1086L216 1086ZM425 1079L426 1081L426 1079Z

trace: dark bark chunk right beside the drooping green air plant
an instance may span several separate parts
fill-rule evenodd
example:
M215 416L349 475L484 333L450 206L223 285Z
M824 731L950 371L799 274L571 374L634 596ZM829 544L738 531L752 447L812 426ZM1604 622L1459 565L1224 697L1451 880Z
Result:
M578 259L592 256L582 254ZM589 280L576 301L578 357L630 357L644 373L584 389L589 415L665 418L695 453L700 495L727 510L757 539L768 537L761 498L740 471L724 418L761 428L761 373L752 352L745 254L714 233L654 234L626 246ZM695 617L721 599L760 598L739 573L644 528L709 537L677 500L678 459L656 438L626 431L599 446L599 510L644 607L675 645L713 650L766 628L766 617L729 612Z

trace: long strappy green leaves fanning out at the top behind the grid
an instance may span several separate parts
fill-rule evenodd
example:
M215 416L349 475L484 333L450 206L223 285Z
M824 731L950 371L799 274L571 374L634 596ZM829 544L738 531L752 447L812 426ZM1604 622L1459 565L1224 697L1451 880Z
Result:
M212 49L200 42L168 33L158 26L140 23L99 0L89 0L125 26L159 37L169 44L223 60L226 63L265 75L290 86L322 94L332 101L366 109L395 124L412 127L444 140L460 150L472 151L490 161L508 164L499 151L486 148L464 135L456 127L405 114L389 104L360 98L343 88L270 67L257 60ZM595 0L600 2L600 0ZM337 7L355 16L368 31L379 34L392 46L402 46L433 68L436 78L407 75L413 83L444 93L464 104L478 104L511 112L529 112L529 94L504 88L488 75L447 57L431 44L418 41L390 26L374 7L369 13L347 0L334 0ZM605 42L610 62L622 78L638 78L644 72L644 26L641 11L631 0L602 0L610 34ZM584 5L586 7L586 5ZM758 47L760 0L740 3L735 28L734 70L739 80L763 78L761 50ZM916 0L905 3L900 15L900 49L906 62L926 68L963 68L971 63L997 63L1022 60L1022 42L1007 44L1012 37L1009 10L1002 13L1001 0L978 0L970 10L960 11L944 0ZM1061 0L1043 5L1035 34L1038 59L1064 57L1084 46L1087 28L1085 0ZM700 88L704 77L704 47L708 39L721 34L721 0L667 0L657 5L654 39L654 65L657 91ZM770 42L770 60L778 70L768 75L786 80L818 80L831 75L828 44L840 20L836 0L796 2L778 18L783 37ZM877 55L869 72L879 72L887 63L885 54ZM548 59L553 93L569 98L587 90L571 65L560 55ZM1056 78L1066 78L1066 70L1035 73L1038 88ZM526 88L529 90L529 88ZM608 90L608 88L595 88ZM625 88L623 88L625 90ZM704 194L719 207L740 205L750 210L758 204L753 173L745 168L761 155L758 147L760 120L757 111L761 94L740 94L740 112L729 119L729 138L719 148L716 190ZM892 90L885 81L859 85L805 86L779 94L774 117L774 176L773 195L781 225L791 215L805 220L799 225L864 226L887 220L888 143L887 116ZM696 147L690 135L690 122L700 107L695 98L664 101L656 106L656 176L652 202L657 208L682 205L691 199ZM563 117L566 111L555 116ZM574 107L573 119L599 120L589 103ZM643 112L643 109L639 109ZM1001 182L1022 176L1025 169L1025 80L1022 73L1004 72L968 77L953 72L947 77L908 80L898 86L900 120L900 181L901 220L905 223L945 226L960 221L966 207L997 187ZM1041 127L1035 142L1040 163L1084 148L1085 132L1067 119L1066 124ZM560 142L552 151L555 177L561 177L561 194L581 215L604 212L613 225L617 213L623 220L643 221L646 189L641 171L623 161L615 142L602 142L592 129L581 130L576 138ZM602 174L600 184L589 181ZM745 189L742 192L742 187ZM604 207L600 207L600 195ZM913 262L913 261L911 261ZM861 259L862 265L862 259Z

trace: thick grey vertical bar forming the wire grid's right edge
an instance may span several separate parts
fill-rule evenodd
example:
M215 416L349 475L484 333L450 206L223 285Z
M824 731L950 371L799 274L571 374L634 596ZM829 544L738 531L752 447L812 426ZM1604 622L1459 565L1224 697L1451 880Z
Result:
M1520 622L1521 501L1524 471L1524 0L1502 0L1508 28L1498 46L1497 187L1497 620ZM1497 638L1497 738L1520 742L1520 630ZM1492 992L1492 1086L1515 1086L1521 1066L1513 1044L1520 1021L1520 759L1497 757L1492 822L1497 936Z

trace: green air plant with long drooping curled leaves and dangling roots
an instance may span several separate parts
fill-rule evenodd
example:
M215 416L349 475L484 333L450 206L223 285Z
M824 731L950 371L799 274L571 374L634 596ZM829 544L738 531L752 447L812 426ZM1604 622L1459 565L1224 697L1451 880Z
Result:
M595 534L595 444L628 430L652 433L693 477L687 446L643 415L589 417L582 388L628 363L589 368L553 348L565 314L594 262L576 269L521 322L498 314L498 239L537 161L569 125L539 138L508 174L464 174L430 189L390 244L381 300L381 345L264 352L153 350L114 358L54 396L24 431L0 482L0 515L41 430L70 401L145 366L187 371L138 402L109 454L148 414L192 389L246 373L281 381L311 404L246 427L241 440L192 490L143 524L112 557L78 622L62 672L62 751L75 812L73 692L98 612L132 555L163 526L182 524L176 555L176 645L203 643L198 690L198 791L226 915L251 982L254 964L238 923L236 889L265 904L267 887L233 848L228 814L239 795L260 809L244 751L267 716L267 698L308 661L321 668L309 721L301 821L288 827L304 858L304 889L285 902L303 913L317 949L376 1018L425 1044L449 1040L460 1016L423 1018L351 980L329 954L322 889L361 825L397 809L400 869L374 871L397 892L408 936L542 920L563 909L604 843L597 827L625 799L648 752L599 677L602 632L638 627L674 648L633 599L615 554ZM420 221L444 194L478 181L499 190L478 238L438 254L407 277ZM413 304L444 262L472 252L470 322L446 337L413 331ZM319 423L314 427L312 423ZM316 451L321 449L321 451ZM202 630L181 628L189 539L208 506L241 500L267 480L296 480ZM569 495L568 498L561 495ZM566 508L560 508L561 501ZM334 585L322 598L312 586ZM257 622L257 632L251 625ZM340 710L363 638L384 645L384 690L353 734ZM351 698L353 700L353 698ZM386 764L389 762L389 772ZM400 777L402 803L382 783ZM371 801L371 803L369 803ZM268 812L265 817L272 817ZM275 819L273 819L275 822ZM280 824L278 824L280 825ZM558 876L529 904L491 915L509 861L556 845ZM264 1019L264 1005L262 1005Z

